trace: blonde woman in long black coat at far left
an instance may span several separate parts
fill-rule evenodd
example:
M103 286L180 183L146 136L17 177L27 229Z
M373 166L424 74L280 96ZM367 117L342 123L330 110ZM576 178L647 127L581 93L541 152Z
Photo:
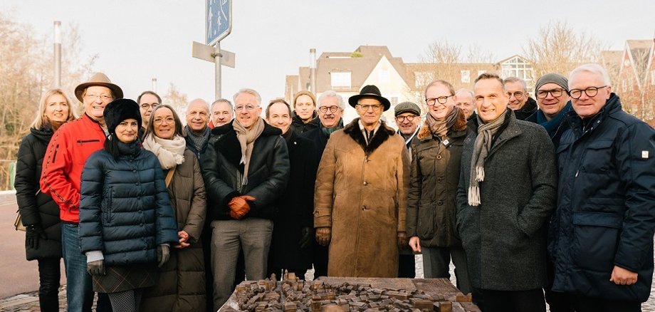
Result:
M23 137L16 162L16 202L26 226L26 258L38 261L38 303L41 311L59 311L61 278L61 222L59 207L48 194L38 192L41 164L53 133L75 119L61 89L43 93L30 133Z

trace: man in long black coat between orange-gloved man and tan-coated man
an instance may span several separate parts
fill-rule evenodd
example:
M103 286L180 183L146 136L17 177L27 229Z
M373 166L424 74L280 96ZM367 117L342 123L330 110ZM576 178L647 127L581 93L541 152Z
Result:
M266 122L282 130L291 165L286 190L278 199L280 212L274 219L267 275L274 273L280 277L281 271L286 270L305 279L305 273L312 268L314 241L313 184L318 166L313 157L314 143L290 129L291 107L283 99L268 104Z

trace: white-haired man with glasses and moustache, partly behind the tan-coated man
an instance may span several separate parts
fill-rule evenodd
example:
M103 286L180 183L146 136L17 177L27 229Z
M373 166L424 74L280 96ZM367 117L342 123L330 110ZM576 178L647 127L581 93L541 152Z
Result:
M318 119L320 120L320 124L318 128L303 133L303 137L307 137L314 143L312 154L314 158L313 165L315 165L312 170L314 174L318 171L320 157L323 155L323 150L325 150L325 145L327 145L327 139L330 138L330 134L343 128L343 120L341 118L343 110L343 98L335 91L327 90L318 98ZM312 181L312 198L314 196L314 184L315 181ZM327 276L327 246L314 244L312 263L314 265L314 279L318 279L320 276Z

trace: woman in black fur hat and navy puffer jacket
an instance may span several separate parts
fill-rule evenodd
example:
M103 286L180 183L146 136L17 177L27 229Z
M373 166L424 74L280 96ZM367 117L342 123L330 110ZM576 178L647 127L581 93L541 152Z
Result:
M142 150L139 106L118 99L103 113L109 137L82 172L80 249L93 290L108 293L114 311L138 311L142 289L177 244L177 224L157 157Z

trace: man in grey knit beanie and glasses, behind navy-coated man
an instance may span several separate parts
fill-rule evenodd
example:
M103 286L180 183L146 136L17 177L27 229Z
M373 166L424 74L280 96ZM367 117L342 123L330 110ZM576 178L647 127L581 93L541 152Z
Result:
M525 118L546 128L550 140L557 147L560 136L568 129L564 123L566 113L571 110L568 80L558 73L547 73L537 80L535 95L539 109Z

